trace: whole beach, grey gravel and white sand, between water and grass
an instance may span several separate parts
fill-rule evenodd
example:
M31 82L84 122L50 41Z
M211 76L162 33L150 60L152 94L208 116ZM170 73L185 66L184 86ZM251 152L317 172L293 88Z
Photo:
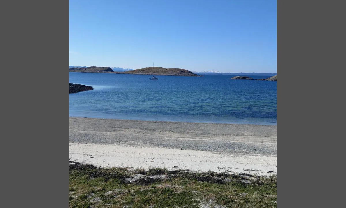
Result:
M276 173L276 125L70 117L70 161L100 167Z

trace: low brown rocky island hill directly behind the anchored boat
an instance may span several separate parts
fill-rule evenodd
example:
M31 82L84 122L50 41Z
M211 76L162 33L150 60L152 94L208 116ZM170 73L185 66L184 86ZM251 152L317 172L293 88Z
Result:
M169 76L190 76L190 77L200 77L195 73L192 73L186 69L178 68L163 68L163 67L146 67L142 69L136 69L131 71L124 72L114 72L114 73L123 73L123 74L137 74L137 75L169 75Z

